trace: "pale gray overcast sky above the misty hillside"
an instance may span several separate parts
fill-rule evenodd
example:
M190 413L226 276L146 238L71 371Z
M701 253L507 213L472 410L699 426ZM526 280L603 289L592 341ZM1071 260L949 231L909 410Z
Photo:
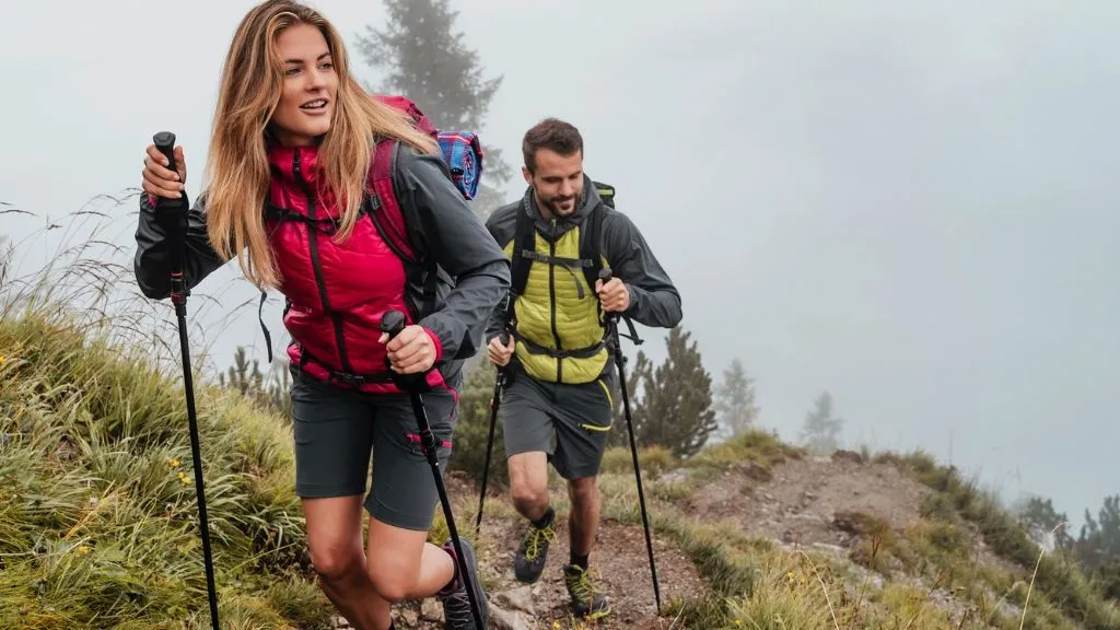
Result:
M4 2L0 202L38 217L0 215L0 233L27 239L139 186L162 129L196 194L250 6ZM315 6L352 46L384 15ZM580 127L588 173L618 188L680 287L709 370L738 356L757 379L763 424L794 438L828 389L846 439L923 446L1008 498L1053 497L1080 521L1120 492L1120 3L454 6L505 75L486 141L520 166L539 119ZM133 210L115 211L130 248ZM251 299L235 269L199 290ZM265 317L279 349L278 300ZM662 333L643 332L663 358ZM220 365L237 343L264 356L255 308L211 333L195 341Z

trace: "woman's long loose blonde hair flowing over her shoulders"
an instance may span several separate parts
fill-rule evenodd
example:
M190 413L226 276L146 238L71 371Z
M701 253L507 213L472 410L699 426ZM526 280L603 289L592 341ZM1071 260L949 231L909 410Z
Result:
M323 33L338 74L330 130L319 146L317 161L317 179L343 204L338 240L348 238L357 222L379 137L398 139L423 152L439 150L405 113L365 93L349 73L342 38L317 11L293 0L268 0L254 7L237 27L222 70L202 196L215 251L226 260L236 253L245 277L262 289L280 282L263 216L269 189L265 128L283 84L276 41L283 29L298 24Z

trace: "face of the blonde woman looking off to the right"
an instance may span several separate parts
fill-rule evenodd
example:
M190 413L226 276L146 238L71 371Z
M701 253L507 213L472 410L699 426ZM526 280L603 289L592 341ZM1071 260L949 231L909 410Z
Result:
M306 147L330 129L338 74L327 40L311 25L284 29L277 49L283 64L283 89L272 123L282 145Z

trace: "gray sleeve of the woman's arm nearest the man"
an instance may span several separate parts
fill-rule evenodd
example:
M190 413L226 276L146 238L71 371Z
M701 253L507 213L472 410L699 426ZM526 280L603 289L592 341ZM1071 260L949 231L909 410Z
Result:
M485 344L491 314L510 290L510 261L455 187L441 157L402 146L394 186L400 202L420 217L424 249L456 278L442 308L419 324L439 339L442 360L473 356Z

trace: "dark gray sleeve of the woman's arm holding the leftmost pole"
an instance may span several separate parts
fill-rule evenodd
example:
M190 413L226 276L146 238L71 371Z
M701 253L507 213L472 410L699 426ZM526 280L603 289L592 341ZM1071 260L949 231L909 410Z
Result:
M189 200L184 194L183 205L188 204ZM186 212L183 281L186 289L190 290L226 261L214 251L209 237L206 235L206 210L203 201L198 200ZM171 294L171 252L165 228L167 219L167 215L157 216L156 209L148 202L147 193L140 194L137 253L132 270L140 293L152 299L164 299Z

